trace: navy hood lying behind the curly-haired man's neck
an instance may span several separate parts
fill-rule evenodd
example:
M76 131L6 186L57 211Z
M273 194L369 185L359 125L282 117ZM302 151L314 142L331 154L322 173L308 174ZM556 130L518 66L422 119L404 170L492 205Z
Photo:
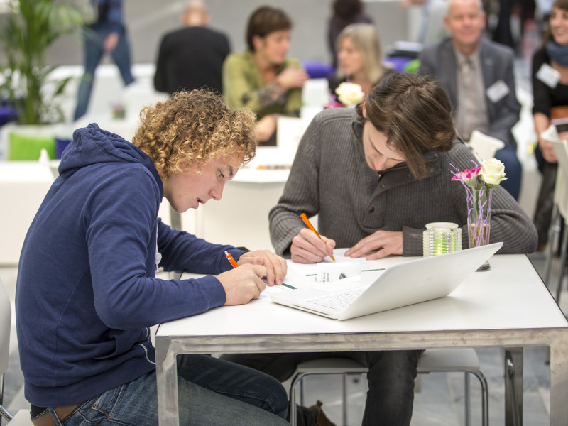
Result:
M162 180L150 157L121 136L99 128L95 123L73 132L73 141L61 156L59 174L69 178L81 168L101 163L141 163L151 171L160 192Z

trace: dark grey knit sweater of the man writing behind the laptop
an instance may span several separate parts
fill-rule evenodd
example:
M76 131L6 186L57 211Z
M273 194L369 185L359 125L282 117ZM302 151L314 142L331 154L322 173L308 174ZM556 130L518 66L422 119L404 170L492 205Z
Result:
M461 141L449 153L430 153L427 177L416 180L405 163L381 173L368 167L361 145L363 126L353 109L327 109L307 128L278 205L269 214L276 253L290 256L290 244L305 225L300 214L319 214L320 234L351 247L379 229L403 231L403 254L422 255L422 231L430 222L461 226L467 237L466 190L452 181L450 164L474 167ZM500 253L530 253L537 234L529 217L502 187L493 191L491 242L503 241Z

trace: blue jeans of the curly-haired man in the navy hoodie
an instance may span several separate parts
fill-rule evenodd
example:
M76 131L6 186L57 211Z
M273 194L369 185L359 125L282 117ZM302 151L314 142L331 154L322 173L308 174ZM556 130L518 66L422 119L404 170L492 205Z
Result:
M178 396L180 426L290 426L280 382L212 356L178 357ZM88 400L55 424L158 426L155 371Z

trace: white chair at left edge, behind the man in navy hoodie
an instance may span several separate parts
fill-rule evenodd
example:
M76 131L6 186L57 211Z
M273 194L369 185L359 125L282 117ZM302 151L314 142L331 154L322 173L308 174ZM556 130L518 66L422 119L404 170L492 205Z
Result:
M4 373L8 370L8 359L10 356L10 329L11 329L12 309L10 300L4 284L0 280L0 375L4 378ZM4 395L4 380L1 381L2 388L0 396ZM16 415L11 415L6 408L1 405L0 399L0 423L1 418L8 420L9 426L32 426L29 410L19 410Z

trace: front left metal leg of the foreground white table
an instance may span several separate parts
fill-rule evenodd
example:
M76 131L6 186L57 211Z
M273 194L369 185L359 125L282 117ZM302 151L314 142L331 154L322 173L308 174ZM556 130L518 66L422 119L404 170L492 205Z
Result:
M178 365L170 350L170 339L156 339L155 371L158 384L158 424L180 426L178 407Z

